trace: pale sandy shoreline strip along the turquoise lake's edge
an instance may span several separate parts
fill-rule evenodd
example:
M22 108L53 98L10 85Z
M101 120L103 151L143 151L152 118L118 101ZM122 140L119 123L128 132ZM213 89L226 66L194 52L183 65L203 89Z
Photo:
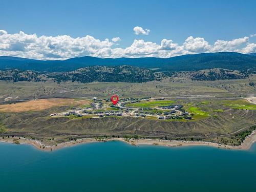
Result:
M16 143L15 143L16 141ZM18 143L17 143L18 141ZM218 148L226 148L230 150L249 150L254 142L256 142L255 131L251 135L246 137L245 141L239 146L231 146L219 143L212 143L207 141L181 141L181 140L160 140L160 139L126 139L126 138L105 138L105 139L95 139L95 138L83 138L77 139L76 141L69 141L59 143L57 145L44 145L38 140L27 139L23 137L10 137L1 138L0 142L14 143L14 144L30 144L41 151L55 151L64 147L71 147L78 144L85 143L95 143L95 142L108 142L108 141L122 141L131 145L159 145L167 147L181 147L181 146L212 146Z

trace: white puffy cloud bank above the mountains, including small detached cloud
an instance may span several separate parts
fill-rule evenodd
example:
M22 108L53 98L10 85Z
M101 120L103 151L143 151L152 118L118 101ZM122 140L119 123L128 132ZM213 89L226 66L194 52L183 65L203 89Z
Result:
M141 28L142 29L142 28ZM139 29L140 30L140 29ZM143 29L142 29L143 30ZM147 31L144 30L145 33ZM150 31L148 31L149 33ZM143 33L143 32L142 32ZM71 57L173 57L184 54L209 52L256 53L256 44L249 42L249 37L232 40L217 40L210 45L202 37L189 36L183 44L172 39L162 39L160 44L143 39L135 39L131 46L117 47L120 37L104 40L93 36L73 38L69 35L37 36L22 31L9 34L0 30L0 56L17 56L33 59L54 60Z

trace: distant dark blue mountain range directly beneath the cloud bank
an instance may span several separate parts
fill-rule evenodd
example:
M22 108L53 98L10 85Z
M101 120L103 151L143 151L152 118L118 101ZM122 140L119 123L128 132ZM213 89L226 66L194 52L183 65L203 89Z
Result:
M256 55L233 52L201 53L170 58L75 57L67 60L35 60L0 56L0 70L18 69L38 72L70 72L89 66L129 65L160 72L198 71L222 68L251 73L256 71Z

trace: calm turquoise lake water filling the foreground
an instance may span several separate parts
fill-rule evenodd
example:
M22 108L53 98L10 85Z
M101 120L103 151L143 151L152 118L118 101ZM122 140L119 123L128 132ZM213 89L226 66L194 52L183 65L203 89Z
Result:
M256 191L256 145L81 144L54 152L0 143L0 191Z

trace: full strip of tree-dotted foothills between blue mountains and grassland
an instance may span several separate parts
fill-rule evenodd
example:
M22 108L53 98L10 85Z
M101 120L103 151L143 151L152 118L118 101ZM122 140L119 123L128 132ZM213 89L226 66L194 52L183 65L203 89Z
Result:
M91 66L70 72L38 72L23 70L0 70L0 80L17 81L56 81L56 82L146 82L172 80L175 77L191 80L241 79L249 75L237 70L210 69L199 71L158 72L133 66Z

